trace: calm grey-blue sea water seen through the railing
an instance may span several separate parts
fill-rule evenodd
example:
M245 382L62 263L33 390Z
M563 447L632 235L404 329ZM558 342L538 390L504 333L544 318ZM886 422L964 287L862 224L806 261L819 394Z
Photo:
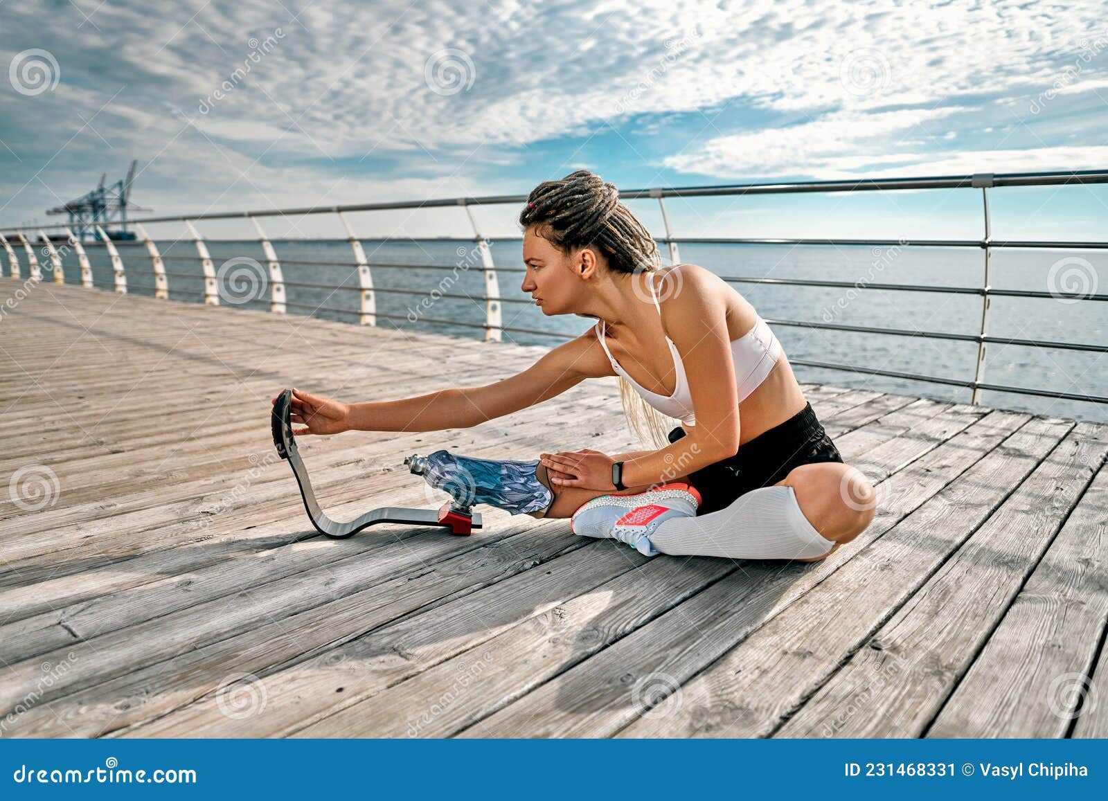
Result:
M268 273L257 242L209 240L215 269L223 270L219 292L224 305L269 308ZM484 277L480 253L465 242L363 240L372 268L379 326L483 338ZM170 298L203 302L204 280L193 242L158 243L170 275ZM353 251L343 240L277 240L274 243L287 286L289 315L315 315L357 325L358 274ZM523 280L519 240L493 243L505 328L576 336L591 324L573 315L546 317ZM663 246L663 253L666 253ZM138 244L120 244L129 291L154 294L150 256ZM103 246L89 247L93 284L111 290L111 260ZM858 366L888 371L972 380L977 343L924 337L839 331L783 321L840 324L872 328L926 330L976 336L982 325L982 296L868 288L875 284L981 288L984 251L981 248L923 248L822 245L694 245L680 246L683 261L711 269L724 278L817 279L845 281L849 287L806 287L789 284L732 283L758 312L769 319L784 352L792 359ZM235 260L235 261L233 261ZM387 265L413 265L393 267ZM430 265L433 267L417 267ZM240 280L232 276L236 271ZM78 283L73 253L65 253L66 283ZM253 271L255 284L249 281ZM1053 342L1108 345L1108 302L1075 301L1064 294L1108 294L1108 255L1091 250L995 248L991 285L994 289L1027 289L1059 297L993 297L988 332L996 337ZM392 290L392 291L390 291ZM462 297L449 297L462 296ZM392 317L386 317L392 315ZM439 320L475 327L445 325ZM554 347L563 338L504 331L504 341ZM983 380L994 384L1108 396L1106 355L1061 348L989 345ZM794 366L801 381L866 388L886 392L970 402L966 388L917 380L869 376L824 368ZM1108 404L983 391L986 407L1015 409L1078 420L1108 421Z

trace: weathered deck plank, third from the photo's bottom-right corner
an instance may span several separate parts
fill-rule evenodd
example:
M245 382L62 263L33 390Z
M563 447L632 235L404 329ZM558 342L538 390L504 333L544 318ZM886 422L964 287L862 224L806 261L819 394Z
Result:
M1108 453L1108 425L1077 423L993 513L835 676L778 732L823 731L860 695L865 715L849 717L842 737L919 737L968 669L1024 579L1085 492ZM899 671L872 688L894 661Z

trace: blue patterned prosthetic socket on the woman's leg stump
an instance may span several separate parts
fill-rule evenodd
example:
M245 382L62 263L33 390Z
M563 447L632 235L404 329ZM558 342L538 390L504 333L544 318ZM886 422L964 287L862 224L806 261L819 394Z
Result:
M429 454L420 466L428 484L449 492L461 506L486 503L512 514L527 514L541 512L554 501L554 493L535 476L537 459L473 459L441 450Z

